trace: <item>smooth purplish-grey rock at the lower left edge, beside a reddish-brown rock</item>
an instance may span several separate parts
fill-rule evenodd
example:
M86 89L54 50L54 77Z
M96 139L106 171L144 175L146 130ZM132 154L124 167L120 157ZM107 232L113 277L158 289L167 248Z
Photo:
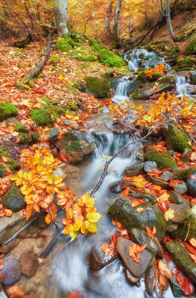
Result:
M17 260L6 258L1 272L3 274L2 284L11 286L20 279L20 263Z

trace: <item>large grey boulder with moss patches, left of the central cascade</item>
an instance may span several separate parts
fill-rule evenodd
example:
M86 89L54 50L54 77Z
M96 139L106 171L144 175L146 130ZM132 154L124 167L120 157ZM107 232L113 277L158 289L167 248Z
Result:
M66 156L68 163L82 162L96 148L91 134L81 131L69 131L55 145Z

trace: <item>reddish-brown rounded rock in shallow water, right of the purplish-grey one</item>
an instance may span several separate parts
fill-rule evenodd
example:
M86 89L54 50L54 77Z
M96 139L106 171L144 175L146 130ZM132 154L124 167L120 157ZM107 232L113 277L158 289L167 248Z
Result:
M36 275L38 265L39 265L39 262L36 256L28 252L23 252L20 255L19 261L20 261L20 268L21 268L22 274L28 277L32 277Z

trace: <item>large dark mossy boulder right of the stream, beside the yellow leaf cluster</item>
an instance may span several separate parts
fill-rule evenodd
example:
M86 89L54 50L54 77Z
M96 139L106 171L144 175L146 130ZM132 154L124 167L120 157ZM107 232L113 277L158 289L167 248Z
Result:
M137 212L137 208L142 207L142 212ZM151 208L148 210L147 208ZM157 230L157 236L164 238L167 223L164 219L164 213L161 210L157 210L156 206L151 204L141 204L135 208L132 208L132 203L128 197L118 198L113 205L108 208L108 215L110 215L115 221L120 222L127 228L138 228L146 230L146 226L153 228L155 225Z

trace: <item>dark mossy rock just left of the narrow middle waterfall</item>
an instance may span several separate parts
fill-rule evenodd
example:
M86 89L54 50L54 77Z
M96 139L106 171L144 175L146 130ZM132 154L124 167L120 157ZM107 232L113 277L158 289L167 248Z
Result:
M103 78L91 75L84 77L86 83L85 92L93 94L97 98L107 97L107 93L110 90L111 86L107 80Z

